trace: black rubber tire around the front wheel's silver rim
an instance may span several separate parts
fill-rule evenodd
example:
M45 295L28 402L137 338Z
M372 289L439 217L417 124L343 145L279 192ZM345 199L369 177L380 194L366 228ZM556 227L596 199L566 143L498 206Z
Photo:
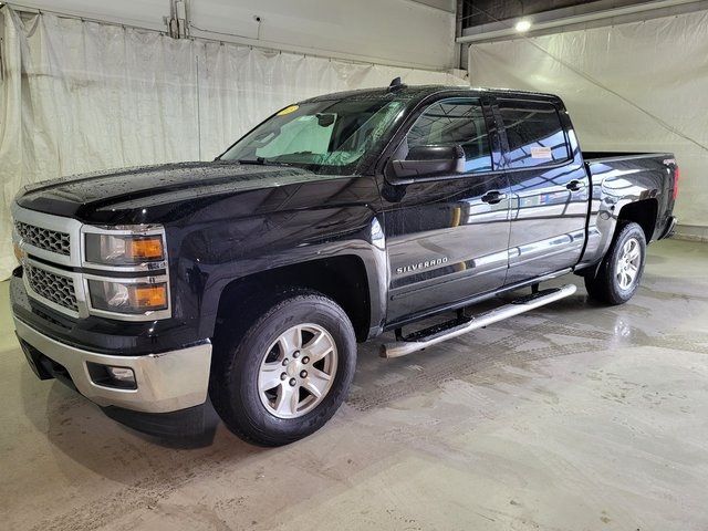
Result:
M252 305L249 315L238 319L239 327L215 341L210 396L223 424L241 439L260 446L287 445L320 429L342 405L354 377L356 337L344 310L320 293L288 290ZM261 398L261 364L280 348L277 346L273 351L270 345L302 323L315 324L329 333L327 341L333 340L335 344L336 368L332 371L334 376L327 384L329 391L322 398L313 398L320 402L313 404L312 410L295 418L279 418ZM302 346L303 352L305 346ZM277 393L288 391L287 382L290 381L282 384L284 391L278 387ZM296 389L302 393L300 386ZM306 391L304 395L308 395Z

